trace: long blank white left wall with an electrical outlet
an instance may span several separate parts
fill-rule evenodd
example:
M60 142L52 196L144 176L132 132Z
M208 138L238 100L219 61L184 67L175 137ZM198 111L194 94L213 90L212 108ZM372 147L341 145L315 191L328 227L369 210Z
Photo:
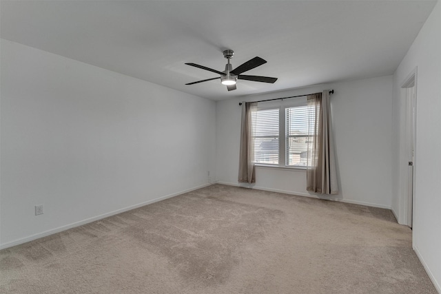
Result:
M1 40L1 246L207 185L215 109Z

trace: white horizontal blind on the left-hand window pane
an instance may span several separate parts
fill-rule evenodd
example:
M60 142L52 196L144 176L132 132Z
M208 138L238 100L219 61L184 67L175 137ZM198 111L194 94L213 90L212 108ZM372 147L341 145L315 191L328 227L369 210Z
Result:
M253 116L254 162L278 165L279 109L259 109Z

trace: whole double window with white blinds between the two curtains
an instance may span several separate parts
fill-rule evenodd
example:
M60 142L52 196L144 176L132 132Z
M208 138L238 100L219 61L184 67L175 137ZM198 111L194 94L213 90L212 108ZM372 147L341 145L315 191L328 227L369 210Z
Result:
M307 143L312 140L308 123L315 119L308 116L306 96L283 106L259 107L252 116L254 162L306 168Z

